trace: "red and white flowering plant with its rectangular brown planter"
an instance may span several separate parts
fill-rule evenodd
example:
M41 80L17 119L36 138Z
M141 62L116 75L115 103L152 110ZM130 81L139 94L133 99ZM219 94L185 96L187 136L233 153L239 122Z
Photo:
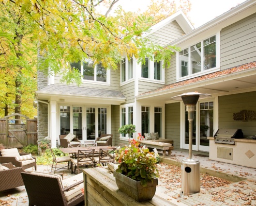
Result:
M138 139L141 137L139 134ZM137 201L152 199L158 185L158 152L145 146L140 147L134 139L125 147L115 150L115 160L119 163L114 172L116 184L122 192Z

